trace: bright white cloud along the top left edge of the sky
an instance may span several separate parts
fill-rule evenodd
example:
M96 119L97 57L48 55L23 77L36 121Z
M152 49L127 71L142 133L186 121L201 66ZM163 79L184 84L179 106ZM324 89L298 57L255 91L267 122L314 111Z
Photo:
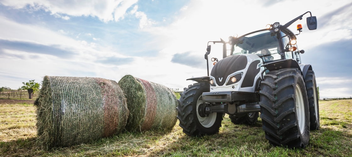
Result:
M93 16L102 21L118 21L124 18L126 10L138 0L2 0L1 3L14 8L24 8L29 5L34 9L43 8L55 17L69 20L70 16Z

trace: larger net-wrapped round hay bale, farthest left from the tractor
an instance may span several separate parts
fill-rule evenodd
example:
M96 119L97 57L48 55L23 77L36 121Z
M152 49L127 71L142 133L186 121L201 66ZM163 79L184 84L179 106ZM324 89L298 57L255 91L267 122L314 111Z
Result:
M111 136L128 118L118 83L100 78L45 76L35 105L37 142L46 148Z

